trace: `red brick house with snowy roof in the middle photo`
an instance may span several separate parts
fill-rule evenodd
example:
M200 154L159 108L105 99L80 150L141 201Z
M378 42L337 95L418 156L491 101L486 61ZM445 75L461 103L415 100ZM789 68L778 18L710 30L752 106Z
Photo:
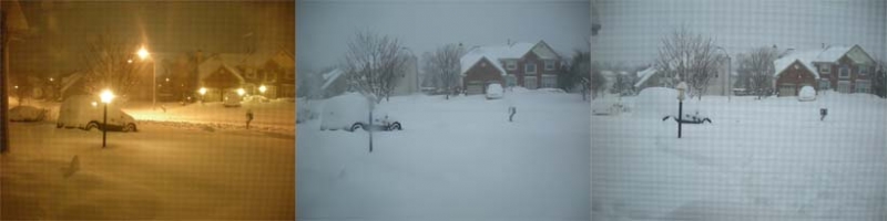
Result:
M565 72L560 55L544 41L473 48L462 55L460 64L466 94L485 93L489 83L553 88L558 76Z

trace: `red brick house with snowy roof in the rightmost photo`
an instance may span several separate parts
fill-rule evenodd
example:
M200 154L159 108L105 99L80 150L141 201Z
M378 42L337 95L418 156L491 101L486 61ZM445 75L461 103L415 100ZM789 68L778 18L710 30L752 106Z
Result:
M859 45L792 51L773 64L779 96L796 96L803 86L817 92L871 93L875 61Z

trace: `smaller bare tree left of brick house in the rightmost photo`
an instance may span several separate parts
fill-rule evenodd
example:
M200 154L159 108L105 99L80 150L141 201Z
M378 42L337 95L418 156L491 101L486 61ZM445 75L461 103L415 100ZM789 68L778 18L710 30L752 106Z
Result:
M779 54L769 46L753 49L747 55L740 55L740 80L744 80L747 90L761 98L762 95L773 90L773 61Z

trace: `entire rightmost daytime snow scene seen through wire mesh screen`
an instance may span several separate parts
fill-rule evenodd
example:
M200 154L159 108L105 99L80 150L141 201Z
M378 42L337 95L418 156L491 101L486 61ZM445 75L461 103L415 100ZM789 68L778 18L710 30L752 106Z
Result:
M887 220L886 1L592 4L593 220Z

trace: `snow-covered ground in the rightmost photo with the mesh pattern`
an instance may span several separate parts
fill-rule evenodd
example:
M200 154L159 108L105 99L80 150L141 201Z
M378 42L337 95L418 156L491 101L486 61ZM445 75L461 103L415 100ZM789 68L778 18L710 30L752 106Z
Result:
M623 97L631 113L593 116L593 220L887 220L887 101L828 93ZM597 101L595 101L597 102ZM819 120L819 108L828 108Z

